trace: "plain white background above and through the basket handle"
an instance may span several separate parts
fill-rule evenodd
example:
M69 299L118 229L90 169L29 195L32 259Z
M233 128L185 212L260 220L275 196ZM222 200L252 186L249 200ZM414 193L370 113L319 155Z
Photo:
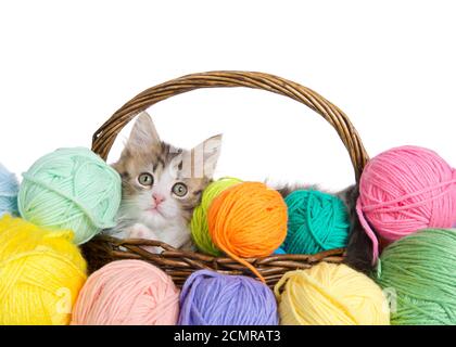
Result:
M455 166L455 13L451 0L1 1L0 162L21 174L56 147L90 146L148 87L244 69L332 101L371 156L418 144ZM176 145L224 132L218 176L333 189L353 181L335 132L283 97L199 90L150 113Z

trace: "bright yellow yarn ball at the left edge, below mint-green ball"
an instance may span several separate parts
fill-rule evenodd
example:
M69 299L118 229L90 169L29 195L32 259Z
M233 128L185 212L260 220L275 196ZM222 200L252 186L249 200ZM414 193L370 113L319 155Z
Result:
M0 219L0 325L64 325L86 281L72 231Z

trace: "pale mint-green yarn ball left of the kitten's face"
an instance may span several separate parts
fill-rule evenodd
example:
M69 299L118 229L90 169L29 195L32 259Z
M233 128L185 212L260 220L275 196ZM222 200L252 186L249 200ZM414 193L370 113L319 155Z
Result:
M18 208L26 220L49 229L71 229L78 245L115 226L121 177L90 150L58 150L23 176Z

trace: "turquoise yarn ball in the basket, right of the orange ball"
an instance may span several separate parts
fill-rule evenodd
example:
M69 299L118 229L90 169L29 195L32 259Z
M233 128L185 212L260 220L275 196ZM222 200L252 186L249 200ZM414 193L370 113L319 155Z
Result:
M319 191L295 191L286 197L288 232L282 245L288 254L316 254L345 247L350 219L339 197Z

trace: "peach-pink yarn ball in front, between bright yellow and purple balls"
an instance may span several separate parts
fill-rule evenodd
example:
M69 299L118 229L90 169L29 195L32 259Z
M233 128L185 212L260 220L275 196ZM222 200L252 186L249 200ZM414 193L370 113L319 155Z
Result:
M142 260L117 260L93 272L76 301L72 325L175 325L179 291Z

